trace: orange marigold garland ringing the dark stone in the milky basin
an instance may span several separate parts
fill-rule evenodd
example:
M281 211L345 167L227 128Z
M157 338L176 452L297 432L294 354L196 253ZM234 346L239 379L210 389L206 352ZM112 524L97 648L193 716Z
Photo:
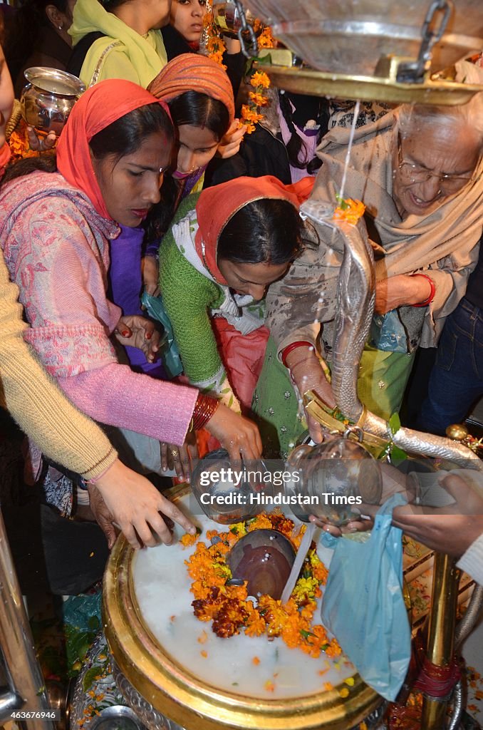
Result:
M295 532L293 520L279 512L270 515L261 513L255 518L230 526L227 532L206 531L206 539L220 538L215 545L198 542L196 550L185 565L193 580L190 591L195 600L193 611L200 621L211 621L212 631L227 638L240 631L251 636L281 637L290 648L299 648L317 658L321 651L336 657L341 653L336 639L328 639L320 624L313 625L312 618L317 608L317 598L322 593L320 585L325 584L328 571L317 556L315 545L306 556L299 577L289 601L282 605L271 596L260 596L255 606L247 600L247 583L226 585L231 570L226 555L233 545L247 532L256 529L275 529L292 542L295 549L301 543L305 526ZM183 536L183 545L192 545L197 536Z

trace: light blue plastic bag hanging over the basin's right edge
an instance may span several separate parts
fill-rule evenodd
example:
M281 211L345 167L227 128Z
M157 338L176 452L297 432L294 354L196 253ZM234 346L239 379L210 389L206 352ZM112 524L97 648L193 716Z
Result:
M322 599L322 623L332 631L364 682L391 702L411 656L411 629L404 605L402 531L391 526L395 494L376 515L371 537L355 542L322 536L333 558Z

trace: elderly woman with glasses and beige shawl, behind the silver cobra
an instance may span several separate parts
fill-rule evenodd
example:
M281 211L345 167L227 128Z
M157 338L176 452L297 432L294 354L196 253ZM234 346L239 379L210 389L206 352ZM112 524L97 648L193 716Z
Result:
M401 406L414 351L418 345L436 346L478 258L483 223L479 96L457 108L404 105L355 130L343 194L366 205L376 260L376 312L358 390L368 409L386 419ZM349 133L333 128L317 152L323 164L312 198L333 208ZM271 339L254 410L270 434L273 452L286 453L302 429L300 393L313 388L334 404L318 356L330 364L343 246L331 228L317 226L317 233L318 250L306 250L287 276L271 285L267 298ZM320 436L315 424L309 427Z

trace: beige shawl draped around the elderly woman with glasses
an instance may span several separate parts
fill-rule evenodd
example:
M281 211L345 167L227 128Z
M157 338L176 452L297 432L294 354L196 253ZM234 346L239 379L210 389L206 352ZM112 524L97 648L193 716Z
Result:
M401 219L393 201L393 153L396 143L395 114L355 131L345 198L362 200L374 219L369 236L374 242L376 278L411 274L430 269L436 296L422 328L422 346L436 345L444 318L464 296L468 275L478 258L477 243L483 226L483 162L475 171L475 183L444 199L428 215ZM334 128L322 139L317 155L323 165L312 197L336 204L341 187L350 130ZM320 231L319 231L320 232Z

